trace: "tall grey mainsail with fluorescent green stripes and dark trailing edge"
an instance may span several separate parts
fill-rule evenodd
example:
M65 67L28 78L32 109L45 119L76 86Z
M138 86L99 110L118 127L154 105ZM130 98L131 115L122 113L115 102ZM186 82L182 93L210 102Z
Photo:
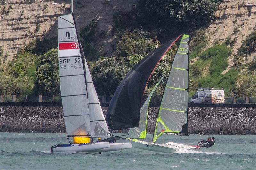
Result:
M183 34L164 88L153 142L166 132L188 133L188 52L189 35Z

